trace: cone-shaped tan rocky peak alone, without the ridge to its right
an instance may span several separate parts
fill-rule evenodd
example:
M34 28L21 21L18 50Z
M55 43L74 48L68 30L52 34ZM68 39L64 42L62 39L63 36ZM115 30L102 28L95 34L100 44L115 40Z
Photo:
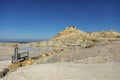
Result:
M91 38L92 37L86 32L78 30L75 26L72 26L70 28L65 28L64 31L53 37L51 41L67 47L79 46L81 48L87 48L94 46L92 41L90 41Z

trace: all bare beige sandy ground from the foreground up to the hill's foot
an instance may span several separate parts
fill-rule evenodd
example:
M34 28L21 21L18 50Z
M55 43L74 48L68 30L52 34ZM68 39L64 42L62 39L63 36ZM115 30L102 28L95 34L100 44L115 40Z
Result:
M101 42L94 48L72 48L49 60L55 57L63 61L21 67L1 80L120 80L120 41ZM0 69L9 63L2 59Z

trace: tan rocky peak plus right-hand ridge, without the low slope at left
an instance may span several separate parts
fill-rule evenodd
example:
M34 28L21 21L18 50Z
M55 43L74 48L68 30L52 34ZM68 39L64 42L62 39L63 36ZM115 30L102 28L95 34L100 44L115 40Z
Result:
M62 32L58 33L51 40L63 41L64 44L69 45L79 45L82 47L92 47L94 45L94 40L99 39L109 39L109 38L119 38L120 33L110 30L108 32L84 32L78 30L75 26L70 28L65 28Z

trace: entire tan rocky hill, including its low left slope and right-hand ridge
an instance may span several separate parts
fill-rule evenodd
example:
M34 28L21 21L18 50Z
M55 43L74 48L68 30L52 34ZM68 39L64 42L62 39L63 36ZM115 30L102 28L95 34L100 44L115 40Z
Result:
M120 33L110 30L108 32L84 32L76 28L76 26L67 27L49 41L29 43L31 46L37 47L94 47L94 42L101 39L120 38Z

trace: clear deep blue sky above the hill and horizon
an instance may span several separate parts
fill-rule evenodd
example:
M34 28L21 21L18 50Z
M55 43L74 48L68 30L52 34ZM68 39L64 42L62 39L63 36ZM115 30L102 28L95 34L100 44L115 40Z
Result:
M120 31L120 0L0 0L0 39L50 39L73 25Z

